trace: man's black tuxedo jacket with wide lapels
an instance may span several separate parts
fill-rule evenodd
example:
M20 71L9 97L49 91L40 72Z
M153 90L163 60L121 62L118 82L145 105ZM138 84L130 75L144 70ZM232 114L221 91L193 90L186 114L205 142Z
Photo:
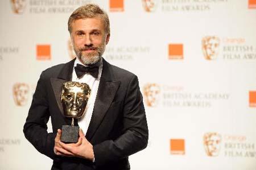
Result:
M71 119L63 116L60 95L63 83L72 80L74 61L42 72L24 135L36 150L53 159L52 169L130 169L128 156L145 148L148 140L142 94L137 76L104 59L92 119L85 135L93 145L95 163L54 154L57 129L71 125ZM47 132L49 117L52 133Z

